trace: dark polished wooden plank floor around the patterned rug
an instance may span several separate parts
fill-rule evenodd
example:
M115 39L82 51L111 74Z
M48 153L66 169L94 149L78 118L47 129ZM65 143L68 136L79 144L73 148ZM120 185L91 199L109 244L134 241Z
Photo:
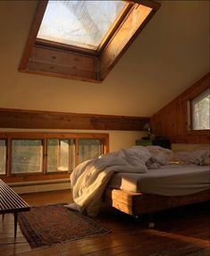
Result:
M31 206L70 202L71 193L39 192L21 195ZM103 206L95 218L112 232L63 245L31 250L18 227L13 238L13 215L0 218L0 255L22 256L209 256L210 206L207 203L162 211L154 215L155 228L147 228L147 216L132 218Z

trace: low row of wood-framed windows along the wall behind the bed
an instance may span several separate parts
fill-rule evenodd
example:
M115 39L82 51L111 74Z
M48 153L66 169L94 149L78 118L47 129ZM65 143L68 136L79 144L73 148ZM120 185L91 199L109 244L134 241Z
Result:
M106 152L106 133L0 132L0 176L5 182L68 178L82 161Z

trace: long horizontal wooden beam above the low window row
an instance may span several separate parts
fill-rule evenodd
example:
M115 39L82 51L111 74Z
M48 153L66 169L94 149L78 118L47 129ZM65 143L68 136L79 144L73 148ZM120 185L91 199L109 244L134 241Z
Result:
M0 108L0 128L143 131L149 117Z

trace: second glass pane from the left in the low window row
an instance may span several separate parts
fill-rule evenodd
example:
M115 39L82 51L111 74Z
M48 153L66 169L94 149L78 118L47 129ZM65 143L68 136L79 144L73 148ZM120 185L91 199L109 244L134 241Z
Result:
M42 141L12 141L12 174L42 172Z

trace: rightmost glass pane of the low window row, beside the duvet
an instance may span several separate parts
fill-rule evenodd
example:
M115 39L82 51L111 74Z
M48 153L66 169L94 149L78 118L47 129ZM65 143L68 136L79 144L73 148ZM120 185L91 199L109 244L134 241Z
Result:
M100 140L79 140L79 163L91 158L98 158L102 153L102 143Z

